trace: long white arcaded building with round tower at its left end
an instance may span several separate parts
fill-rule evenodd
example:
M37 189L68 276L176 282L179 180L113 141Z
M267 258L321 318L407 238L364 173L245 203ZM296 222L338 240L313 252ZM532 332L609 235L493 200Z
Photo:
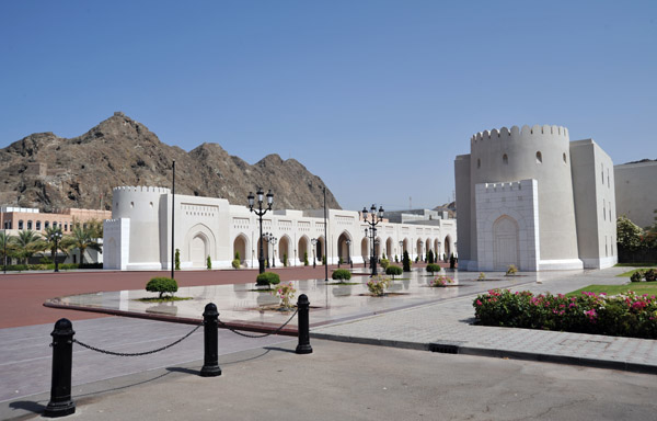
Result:
M172 200L169 189L120 186L113 192L112 219L104 225L104 268L114 270L171 269ZM258 266L260 220L246 206L231 205L224 198L175 195L174 247L180 250L181 269L205 269L210 258L214 269L231 268L239 252L243 266ZM324 210L272 210L263 216L263 232L277 241L264 243L265 259L275 265L310 264L313 252L318 263L326 255L330 264L342 258L355 264L369 259L367 224L355 210L327 209L324 238ZM312 240L316 246L313 247ZM394 259L408 251L411 259L429 250L449 258L457 252L454 219L433 219L393 224L383 219L377 226L376 254ZM324 252L325 250L325 252Z

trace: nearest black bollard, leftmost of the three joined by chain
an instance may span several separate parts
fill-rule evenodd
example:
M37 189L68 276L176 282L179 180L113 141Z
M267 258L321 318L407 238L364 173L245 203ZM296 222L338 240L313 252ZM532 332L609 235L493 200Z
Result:
M76 402L71 399L71 368L73 363L73 326L69 319L59 319L55 323L53 337L53 382L50 401L44 417L66 417L76 412Z

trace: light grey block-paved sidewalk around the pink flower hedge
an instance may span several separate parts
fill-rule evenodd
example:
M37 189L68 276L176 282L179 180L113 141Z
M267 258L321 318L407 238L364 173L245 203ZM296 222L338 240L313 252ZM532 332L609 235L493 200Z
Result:
M511 291L567 293L590 284L618 283L627 268L564 275ZM548 361L657 374L657 341L584 333L473 326L473 296L312 329L334 341L445 353Z

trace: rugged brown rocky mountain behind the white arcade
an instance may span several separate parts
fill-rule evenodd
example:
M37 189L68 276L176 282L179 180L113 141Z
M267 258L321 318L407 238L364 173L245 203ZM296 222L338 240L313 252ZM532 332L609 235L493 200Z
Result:
M251 166L217 144L186 152L117 112L79 137L37 133L0 149L0 204L18 202L45 212L111 209L115 186L170 187L173 160L176 194L246 205L249 192L262 185L274 192L274 208L320 208L324 203L324 182L295 159L268 155ZM326 204L341 208L328 189Z

